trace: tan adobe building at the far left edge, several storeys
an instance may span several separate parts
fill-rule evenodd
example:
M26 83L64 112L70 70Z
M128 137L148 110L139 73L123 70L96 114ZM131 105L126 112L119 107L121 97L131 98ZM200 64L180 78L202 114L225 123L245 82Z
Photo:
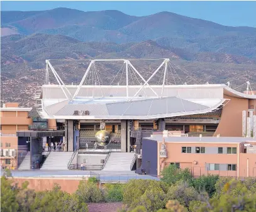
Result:
M19 130L28 130L32 119L28 117L31 108L19 107L19 103L5 103L1 108L1 167L16 169L18 167Z

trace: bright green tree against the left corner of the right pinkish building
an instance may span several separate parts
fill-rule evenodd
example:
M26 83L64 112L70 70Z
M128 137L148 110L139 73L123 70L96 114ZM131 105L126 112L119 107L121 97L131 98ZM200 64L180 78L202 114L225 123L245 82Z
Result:
M170 164L170 166L165 167L162 171L161 180L168 184L174 184L180 180L187 181L189 184L191 184L192 175L188 168L179 169L174 164Z

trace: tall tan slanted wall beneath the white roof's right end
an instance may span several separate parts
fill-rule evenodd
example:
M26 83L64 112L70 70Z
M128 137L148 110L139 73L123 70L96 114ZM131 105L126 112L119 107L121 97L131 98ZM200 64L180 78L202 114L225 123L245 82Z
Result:
M242 135L242 111L248 110L248 99L236 98L224 95L229 98L221 114L220 123L214 133L214 136L220 134L225 137L240 137Z

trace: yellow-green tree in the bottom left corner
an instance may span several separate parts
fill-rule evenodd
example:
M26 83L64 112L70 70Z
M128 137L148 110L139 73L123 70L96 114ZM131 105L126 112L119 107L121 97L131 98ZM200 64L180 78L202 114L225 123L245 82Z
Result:
M1 178L1 211L13 212L18 210L17 193L18 189L16 185L13 185L13 181L3 176Z

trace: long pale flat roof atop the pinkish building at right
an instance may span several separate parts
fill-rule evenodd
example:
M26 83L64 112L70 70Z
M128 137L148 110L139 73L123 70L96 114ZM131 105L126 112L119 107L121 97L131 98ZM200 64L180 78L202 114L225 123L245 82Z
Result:
M143 139L155 140L162 142L163 136L156 135L154 137L145 137ZM177 143L241 143L241 142L256 142L256 138L253 137L164 137L165 142L177 142Z

